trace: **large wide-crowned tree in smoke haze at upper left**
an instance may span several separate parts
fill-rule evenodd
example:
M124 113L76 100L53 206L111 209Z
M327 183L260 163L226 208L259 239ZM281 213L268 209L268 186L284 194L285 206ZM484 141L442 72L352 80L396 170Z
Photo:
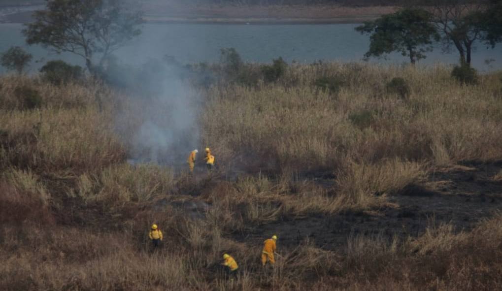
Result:
M142 23L141 13L126 8L122 0L47 0L46 10L35 12L34 18L23 30L28 44L79 55L91 73L95 55L101 66L141 33Z

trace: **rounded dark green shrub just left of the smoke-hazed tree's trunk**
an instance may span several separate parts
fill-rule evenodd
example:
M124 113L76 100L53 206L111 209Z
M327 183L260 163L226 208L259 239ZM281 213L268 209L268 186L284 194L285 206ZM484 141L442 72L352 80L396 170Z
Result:
M61 60L47 62L40 72L44 79L55 85L66 84L83 76L82 67L72 66Z

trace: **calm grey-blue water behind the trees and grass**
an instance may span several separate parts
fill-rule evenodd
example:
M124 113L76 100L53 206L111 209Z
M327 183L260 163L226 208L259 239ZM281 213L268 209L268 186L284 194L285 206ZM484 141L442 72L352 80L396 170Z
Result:
M244 60L270 62L282 56L288 62L315 60L360 61L368 49L369 39L354 31L356 24L333 25L203 25L203 24L147 24L143 34L116 52L124 63L141 64L149 59L173 56L182 63L217 61L220 48L233 47ZM21 34L21 24L0 24L0 52L10 46L23 46L41 67L47 60L63 59L83 65L79 57L71 54L56 55L41 47L28 47ZM502 69L502 45L487 49L478 44L472 64L480 71ZM456 63L458 53L442 53L435 49L422 60L422 64ZM485 64L485 60L494 60ZM392 54L387 59L371 59L386 64L408 63L408 59ZM0 72L3 69L0 68Z

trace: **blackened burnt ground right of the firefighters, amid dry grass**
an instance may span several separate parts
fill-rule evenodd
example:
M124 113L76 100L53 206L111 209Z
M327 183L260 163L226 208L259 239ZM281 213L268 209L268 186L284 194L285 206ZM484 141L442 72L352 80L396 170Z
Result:
M279 232L281 247L294 248L308 240L323 249L343 252L348 239L357 235L383 236L391 242L395 236L400 239L419 237L431 224L442 223L452 224L457 232L469 231L502 207L502 183L489 179L502 169L502 162L464 164L468 167L429 174L429 182L444 184L439 189L409 185L391 196L389 201L398 205L397 208L349 210L305 218L281 217L278 221L251 226L248 232L233 235L233 238L259 244L263 233ZM321 179L312 175L309 178L323 187L333 184L332 179L325 179L329 174L318 175Z

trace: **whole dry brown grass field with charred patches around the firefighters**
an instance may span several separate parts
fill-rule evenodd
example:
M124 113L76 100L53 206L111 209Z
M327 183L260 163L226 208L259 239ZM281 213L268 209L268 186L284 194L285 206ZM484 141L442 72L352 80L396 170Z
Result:
M465 86L443 66L292 64L190 92L211 174L127 162L134 96L0 76L0 289L502 287L500 74ZM273 234L281 257L263 269Z

